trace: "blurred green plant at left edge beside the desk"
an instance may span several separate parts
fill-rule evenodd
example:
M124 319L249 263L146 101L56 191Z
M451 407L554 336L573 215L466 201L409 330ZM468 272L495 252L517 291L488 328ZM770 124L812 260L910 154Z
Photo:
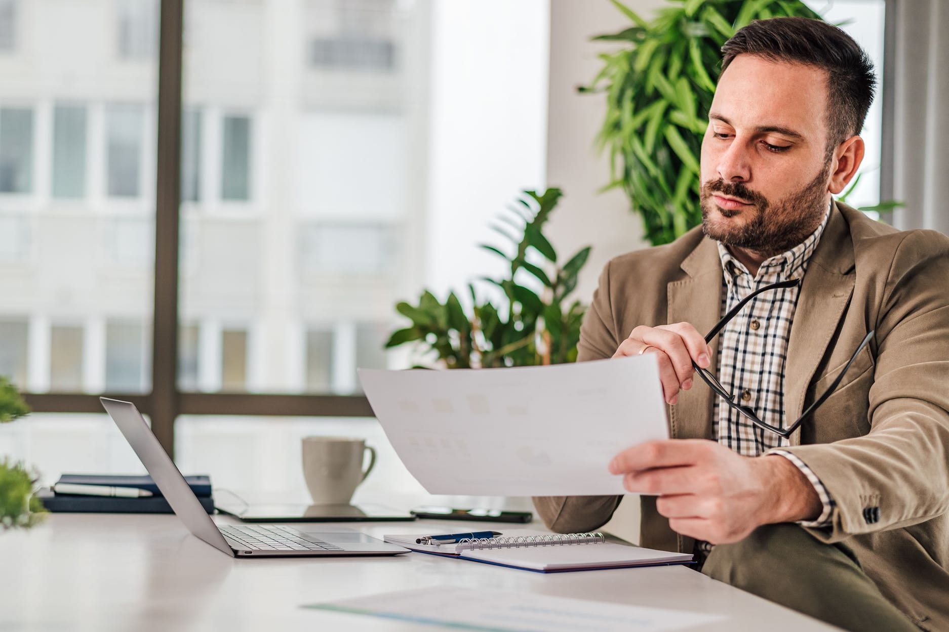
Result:
M6 378L0 376L0 423L28 415L29 407ZM28 529L45 517L46 510L33 496L36 477L22 463L0 461L0 530Z

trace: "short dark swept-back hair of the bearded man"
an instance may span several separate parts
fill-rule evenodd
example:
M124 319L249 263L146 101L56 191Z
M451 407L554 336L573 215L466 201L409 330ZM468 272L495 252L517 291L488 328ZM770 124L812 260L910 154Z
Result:
M822 20L755 20L721 47L721 71L738 55L813 65L828 73L828 151L864 127L877 80L864 49Z

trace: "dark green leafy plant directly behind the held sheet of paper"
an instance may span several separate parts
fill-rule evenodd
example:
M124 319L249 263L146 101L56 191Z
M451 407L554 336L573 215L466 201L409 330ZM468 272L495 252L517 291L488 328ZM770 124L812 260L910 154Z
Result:
M412 324L393 333L386 348L418 342L427 345L448 368L574 362L586 307L579 301L568 304L567 298L576 288L590 249L576 252L563 266L557 264L557 252L544 236L543 227L561 195L560 189L542 194L525 191L508 207L507 214L498 217L504 225L492 228L512 242L511 254L481 245L502 257L510 268L506 278L480 279L500 288L504 294L501 307L479 298L472 284L468 285L469 310L462 307L454 291L441 303L425 290L418 305L402 302L396 306ZM544 266L529 261L537 261L538 255L546 260ZM524 285L526 275L540 283L539 294Z

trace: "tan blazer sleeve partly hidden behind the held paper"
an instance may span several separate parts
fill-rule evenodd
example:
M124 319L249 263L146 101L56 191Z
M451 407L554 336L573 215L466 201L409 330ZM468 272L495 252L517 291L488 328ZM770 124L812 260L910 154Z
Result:
M580 328L577 362L612 358L620 346L610 306L609 269L607 263ZM534 496L533 502L549 530L576 533L605 525L622 499L623 496Z

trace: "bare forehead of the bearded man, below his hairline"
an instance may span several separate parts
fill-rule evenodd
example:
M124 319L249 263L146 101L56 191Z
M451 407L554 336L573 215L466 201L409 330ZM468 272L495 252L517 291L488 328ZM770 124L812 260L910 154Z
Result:
M718 80L709 112L738 127L820 136L827 126L827 72L812 65L738 55Z

